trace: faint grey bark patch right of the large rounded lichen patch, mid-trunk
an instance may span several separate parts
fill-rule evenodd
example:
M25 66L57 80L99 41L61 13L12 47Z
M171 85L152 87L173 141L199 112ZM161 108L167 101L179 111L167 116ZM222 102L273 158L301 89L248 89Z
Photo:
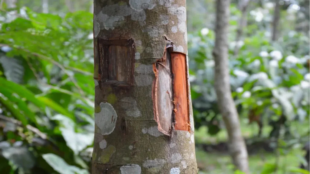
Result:
M125 97L120 100L120 105L126 110L126 115L130 117L139 117L141 112L137 107L137 101L132 97Z

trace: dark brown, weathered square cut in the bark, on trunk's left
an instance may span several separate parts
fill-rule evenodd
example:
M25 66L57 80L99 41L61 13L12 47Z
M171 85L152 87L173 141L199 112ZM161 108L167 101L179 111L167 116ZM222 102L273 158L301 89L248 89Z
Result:
M133 39L98 39L99 72L103 82L133 85L135 46Z

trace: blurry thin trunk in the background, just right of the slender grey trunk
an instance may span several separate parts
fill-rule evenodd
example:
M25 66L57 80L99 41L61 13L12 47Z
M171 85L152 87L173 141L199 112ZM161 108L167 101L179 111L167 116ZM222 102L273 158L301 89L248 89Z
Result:
M246 12L247 12L247 7L249 5L249 2L250 0L240 0L240 3L238 5L241 11L241 18L239 20L238 29L237 29L236 46L234 50L234 55L237 55L240 49L238 42L241 40L242 33L243 33L243 27L246 27L246 19L247 19Z

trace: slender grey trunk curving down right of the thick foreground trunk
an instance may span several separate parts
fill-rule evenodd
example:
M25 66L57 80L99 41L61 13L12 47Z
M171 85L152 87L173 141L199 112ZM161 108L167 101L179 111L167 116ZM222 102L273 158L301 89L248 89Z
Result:
M228 21L229 0L216 1L215 47L215 89L218 105L229 137L229 152L237 169L249 173L246 144L241 135L237 110L232 99L228 71Z

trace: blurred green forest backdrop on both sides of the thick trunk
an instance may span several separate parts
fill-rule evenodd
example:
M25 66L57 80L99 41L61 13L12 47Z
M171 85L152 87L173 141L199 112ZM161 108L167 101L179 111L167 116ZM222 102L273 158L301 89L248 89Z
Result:
M92 3L0 1L2 173L90 173ZM232 0L230 13L230 82L250 170L309 173L299 168L308 167L309 0ZM215 0L188 0L187 27L199 173L234 173L213 87Z

